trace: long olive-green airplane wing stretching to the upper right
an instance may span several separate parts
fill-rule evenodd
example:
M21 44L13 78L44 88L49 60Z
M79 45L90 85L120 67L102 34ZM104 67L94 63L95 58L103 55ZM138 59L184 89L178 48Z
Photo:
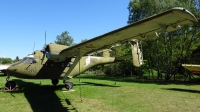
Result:
M66 58L76 56L78 51L82 54L88 54L119 42L130 41L131 39L154 39L157 32L163 30L169 32L174 31L178 29L178 25L193 25L193 23L196 22L198 22L198 20L191 12L181 7L175 7L66 48L60 52L59 60L65 60Z

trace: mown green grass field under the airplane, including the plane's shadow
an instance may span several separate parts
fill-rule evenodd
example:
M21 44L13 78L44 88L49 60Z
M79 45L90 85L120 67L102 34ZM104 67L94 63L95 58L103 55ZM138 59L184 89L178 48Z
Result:
M0 74L0 88L5 78ZM61 81L52 86L50 80L12 79L21 91L0 92L0 112L200 111L200 83L81 75L80 98L78 78L71 80L72 92L63 91Z

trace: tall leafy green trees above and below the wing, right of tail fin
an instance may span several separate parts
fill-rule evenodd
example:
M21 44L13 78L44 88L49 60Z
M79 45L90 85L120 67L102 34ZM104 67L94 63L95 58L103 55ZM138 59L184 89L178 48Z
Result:
M200 19L199 3L197 0L132 0L128 5L127 23L137 22L173 7L184 7ZM199 30L199 27L183 26L174 32L161 32L156 40L143 41L143 56L147 60L147 69L165 71L169 66L176 68L180 67L181 63L200 62L197 61L199 53L193 52L200 44Z

